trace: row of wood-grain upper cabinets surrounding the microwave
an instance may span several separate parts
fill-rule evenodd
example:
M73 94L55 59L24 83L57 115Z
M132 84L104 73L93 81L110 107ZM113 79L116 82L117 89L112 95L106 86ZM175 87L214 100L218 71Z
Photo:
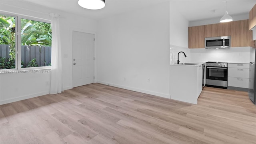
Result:
M188 48L204 48L204 38L231 36L231 47L252 46L249 20L188 27Z

